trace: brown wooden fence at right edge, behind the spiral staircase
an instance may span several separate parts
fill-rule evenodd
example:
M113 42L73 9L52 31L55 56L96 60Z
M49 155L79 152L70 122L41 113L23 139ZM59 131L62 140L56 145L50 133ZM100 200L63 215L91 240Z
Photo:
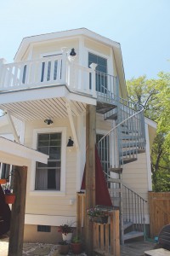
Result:
M149 192L150 236L158 236L164 225L170 224L170 192Z

